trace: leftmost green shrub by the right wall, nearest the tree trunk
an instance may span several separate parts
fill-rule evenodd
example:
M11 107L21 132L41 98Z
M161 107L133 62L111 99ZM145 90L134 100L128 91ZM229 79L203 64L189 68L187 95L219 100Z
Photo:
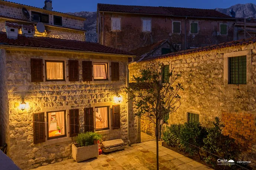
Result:
M166 130L163 132L163 141L169 146L177 147L180 143L179 135L181 132L182 124L172 124L166 127Z

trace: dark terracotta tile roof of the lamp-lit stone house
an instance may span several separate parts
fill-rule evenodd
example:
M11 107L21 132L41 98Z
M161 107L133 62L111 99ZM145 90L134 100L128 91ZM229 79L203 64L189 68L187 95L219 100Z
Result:
M118 50L98 43L90 43L84 41L64 40L48 37L25 37L23 35L18 35L18 38L14 40L7 38L7 35L4 32L0 32L0 44L21 47L38 47L61 50L99 52L108 54L133 55L131 52Z

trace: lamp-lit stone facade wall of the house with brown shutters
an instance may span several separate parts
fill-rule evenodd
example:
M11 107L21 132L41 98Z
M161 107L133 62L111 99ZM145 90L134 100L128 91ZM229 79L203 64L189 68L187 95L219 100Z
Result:
M30 58L65 60L66 81L31 82ZM121 88L126 85L127 57L103 57L100 55L85 55L60 52L10 51L6 52L7 85L9 97L10 121L10 157L20 168L29 169L41 165L59 162L71 158L71 143L69 126L67 137L47 140L33 144L33 113L79 109L80 132L84 132L84 108L95 106L110 106L110 129L97 131L103 135L103 140L121 138L127 142L127 104ZM68 81L68 59L79 60L79 81ZM119 62L120 81L82 81L82 61ZM110 67L109 70L111 71ZM110 74L111 75L111 74ZM45 73L44 73L45 76ZM116 92L123 97L121 105L121 128L112 130L112 105ZM20 97L25 97L27 109L19 109ZM46 118L45 118L46 122ZM45 130L47 133L47 130ZM47 136L47 135L46 135Z

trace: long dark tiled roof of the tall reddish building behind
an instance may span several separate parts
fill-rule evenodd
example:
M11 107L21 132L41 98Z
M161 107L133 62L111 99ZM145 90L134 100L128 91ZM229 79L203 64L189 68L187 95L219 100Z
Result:
M120 12L120 13L158 14L158 15L168 15L168 16L234 19L230 16L227 16L226 14L220 13L213 9L198 9L198 8L98 4L98 10L108 11L108 12Z

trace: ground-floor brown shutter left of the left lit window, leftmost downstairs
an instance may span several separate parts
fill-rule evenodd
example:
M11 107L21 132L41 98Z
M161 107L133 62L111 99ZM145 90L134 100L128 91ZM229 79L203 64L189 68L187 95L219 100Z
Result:
M45 142L45 113L33 114L34 144Z

